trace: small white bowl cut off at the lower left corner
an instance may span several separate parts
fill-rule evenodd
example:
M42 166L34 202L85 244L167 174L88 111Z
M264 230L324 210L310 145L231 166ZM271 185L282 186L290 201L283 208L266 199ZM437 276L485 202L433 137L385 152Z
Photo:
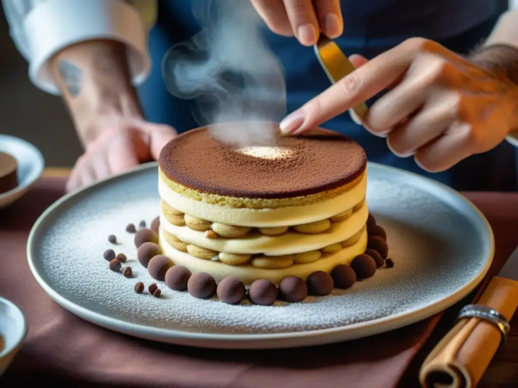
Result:
M27 334L27 322L17 305L0 297L0 336L3 348L0 349L0 376L15 357Z

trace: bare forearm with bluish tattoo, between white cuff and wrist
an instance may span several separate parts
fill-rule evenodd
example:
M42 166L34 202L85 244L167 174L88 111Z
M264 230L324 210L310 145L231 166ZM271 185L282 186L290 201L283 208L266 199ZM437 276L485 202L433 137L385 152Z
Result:
M55 58L53 73L83 145L107 128L107 118L143 116L123 43L91 40L70 46Z

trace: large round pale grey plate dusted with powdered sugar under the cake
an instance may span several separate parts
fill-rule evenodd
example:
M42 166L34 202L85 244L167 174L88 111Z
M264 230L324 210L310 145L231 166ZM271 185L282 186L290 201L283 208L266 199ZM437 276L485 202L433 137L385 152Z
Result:
M156 164L70 193L36 222L27 247L33 275L79 317L133 336L212 348L285 348L382 333L422 320L467 295L487 272L493 233L459 193L427 178L369 163L367 200L385 227L393 268L347 291L270 307L226 305L171 291L137 294L152 280L136 261L127 223L159 213ZM105 249L128 256L135 277L108 270Z

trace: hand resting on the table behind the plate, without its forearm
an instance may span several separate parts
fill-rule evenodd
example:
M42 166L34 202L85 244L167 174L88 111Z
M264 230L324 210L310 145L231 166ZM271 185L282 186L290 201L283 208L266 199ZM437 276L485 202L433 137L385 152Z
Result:
M157 160L162 147L176 136L168 125L138 119L102 122L99 135L85 147L67 182L67 191Z

